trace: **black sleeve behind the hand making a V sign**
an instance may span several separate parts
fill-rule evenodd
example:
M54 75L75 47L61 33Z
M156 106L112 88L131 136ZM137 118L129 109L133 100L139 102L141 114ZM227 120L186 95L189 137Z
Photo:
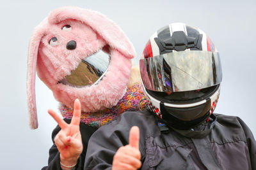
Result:
M70 124L70 120L64 119L65 122ZM83 141L83 152L81 153L79 159L77 160L77 164L75 169L83 169L84 167L84 158L86 155L87 145L88 141L90 139L90 136L92 136L93 132L96 131L97 128L90 127L86 124L81 123L80 124L80 131ZM57 125L57 127L52 131L52 147L49 150L49 159L48 159L48 166L45 166L42 168L42 170L62 170L60 166L60 152L58 151L57 146L54 143L54 138L58 134L58 132L61 130L61 128Z

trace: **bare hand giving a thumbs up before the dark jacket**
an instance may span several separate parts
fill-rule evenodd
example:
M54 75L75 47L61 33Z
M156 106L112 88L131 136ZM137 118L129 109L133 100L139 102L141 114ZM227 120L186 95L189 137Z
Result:
M139 148L140 129L134 126L130 130L129 145L120 147L113 158L112 170L138 169L141 167L141 153Z

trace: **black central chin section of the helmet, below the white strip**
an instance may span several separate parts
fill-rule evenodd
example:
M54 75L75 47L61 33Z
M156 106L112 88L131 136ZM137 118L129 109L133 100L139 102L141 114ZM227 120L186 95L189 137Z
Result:
M176 105L176 104L175 104ZM160 103L164 122L175 129L191 129L204 122L210 115L211 99L203 104L187 108L173 108Z

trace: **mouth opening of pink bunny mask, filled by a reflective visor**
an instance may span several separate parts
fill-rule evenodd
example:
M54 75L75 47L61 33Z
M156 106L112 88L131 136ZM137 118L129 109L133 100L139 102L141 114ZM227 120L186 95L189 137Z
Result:
M108 71L111 57L103 48L92 55L85 57L76 69L58 81L57 84L69 85L70 87L82 88L97 85Z

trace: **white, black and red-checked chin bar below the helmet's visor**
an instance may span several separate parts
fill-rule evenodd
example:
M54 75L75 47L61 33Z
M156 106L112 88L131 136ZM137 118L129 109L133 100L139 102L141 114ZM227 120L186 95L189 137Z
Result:
M143 86L143 89L147 96L150 110L154 111L166 125L180 130L191 129L207 120L214 111L220 95L219 85L207 99L196 103L174 104L159 101L148 94L145 86Z

